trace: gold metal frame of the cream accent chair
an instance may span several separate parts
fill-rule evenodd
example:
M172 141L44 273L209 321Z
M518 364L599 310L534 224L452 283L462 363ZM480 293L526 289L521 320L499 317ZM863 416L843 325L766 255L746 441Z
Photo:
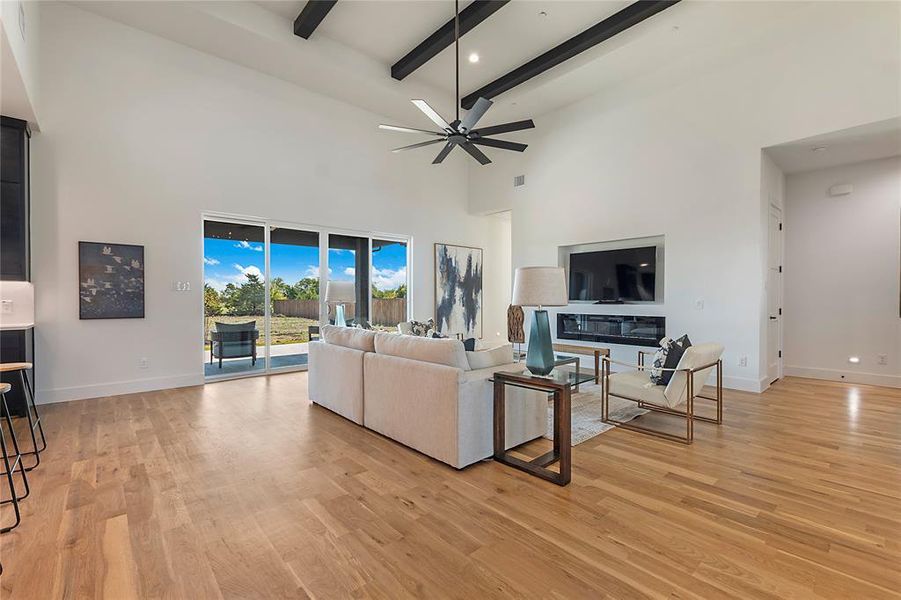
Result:
M663 371L673 371L675 375L676 372L682 371L685 373L685 385L686 385L686 397L685 397L685 410L673 410L671 408L666 408L663 406L657 406L656 404L649 404L643 400L639 400L638 398L631 398L629 396L623 396L621 394L612 394L610 393L610 365L623 365L626 367L631 367L633 369L637 369L639 371L645 370L644 363L644 355L645 354L654 354L653 352L648 352L646 350L638 351L638 364L633 365L629 363L619 362L615 360L611 360L609 356L601 357L603 364L603 373L601 376L602 386L601 386L601 420L604 423L611 423L616 425L617 427L622 427L623 429L629 429L631 431L637 431L639 433L646 433L649 435L653 435L655 437L663 438L666 440L671 440L675 442L681 442L683 444L691 444L694 441L694 422L695 421L704 421L705 423L715 423L716 425L721 425L723 423L723 359L718 359L715 362L696 367L694 369L662 369ZM704 396L702 394L696 394L694 390L694 375L699 371L706 371L707 369L716 368L716 397L711 398L710 396ZM642 427L640 425L635 425L628 421L617 421L616 419L611 419L608 409L610 396L615 398L622 398L623 400L628 400L630 402L635 402L638 404L639 408L644 408L646 410L651 410L654 412L659 412L667 415L674 415L680 418L685 419L685 435L675 435L672 433L667 433L665 431L659 431L656 429L652 429L649 427ZM694 399L702 398L704 400L710 400L716 403L716 418L711 417L701 417L699 415L694 414Z

